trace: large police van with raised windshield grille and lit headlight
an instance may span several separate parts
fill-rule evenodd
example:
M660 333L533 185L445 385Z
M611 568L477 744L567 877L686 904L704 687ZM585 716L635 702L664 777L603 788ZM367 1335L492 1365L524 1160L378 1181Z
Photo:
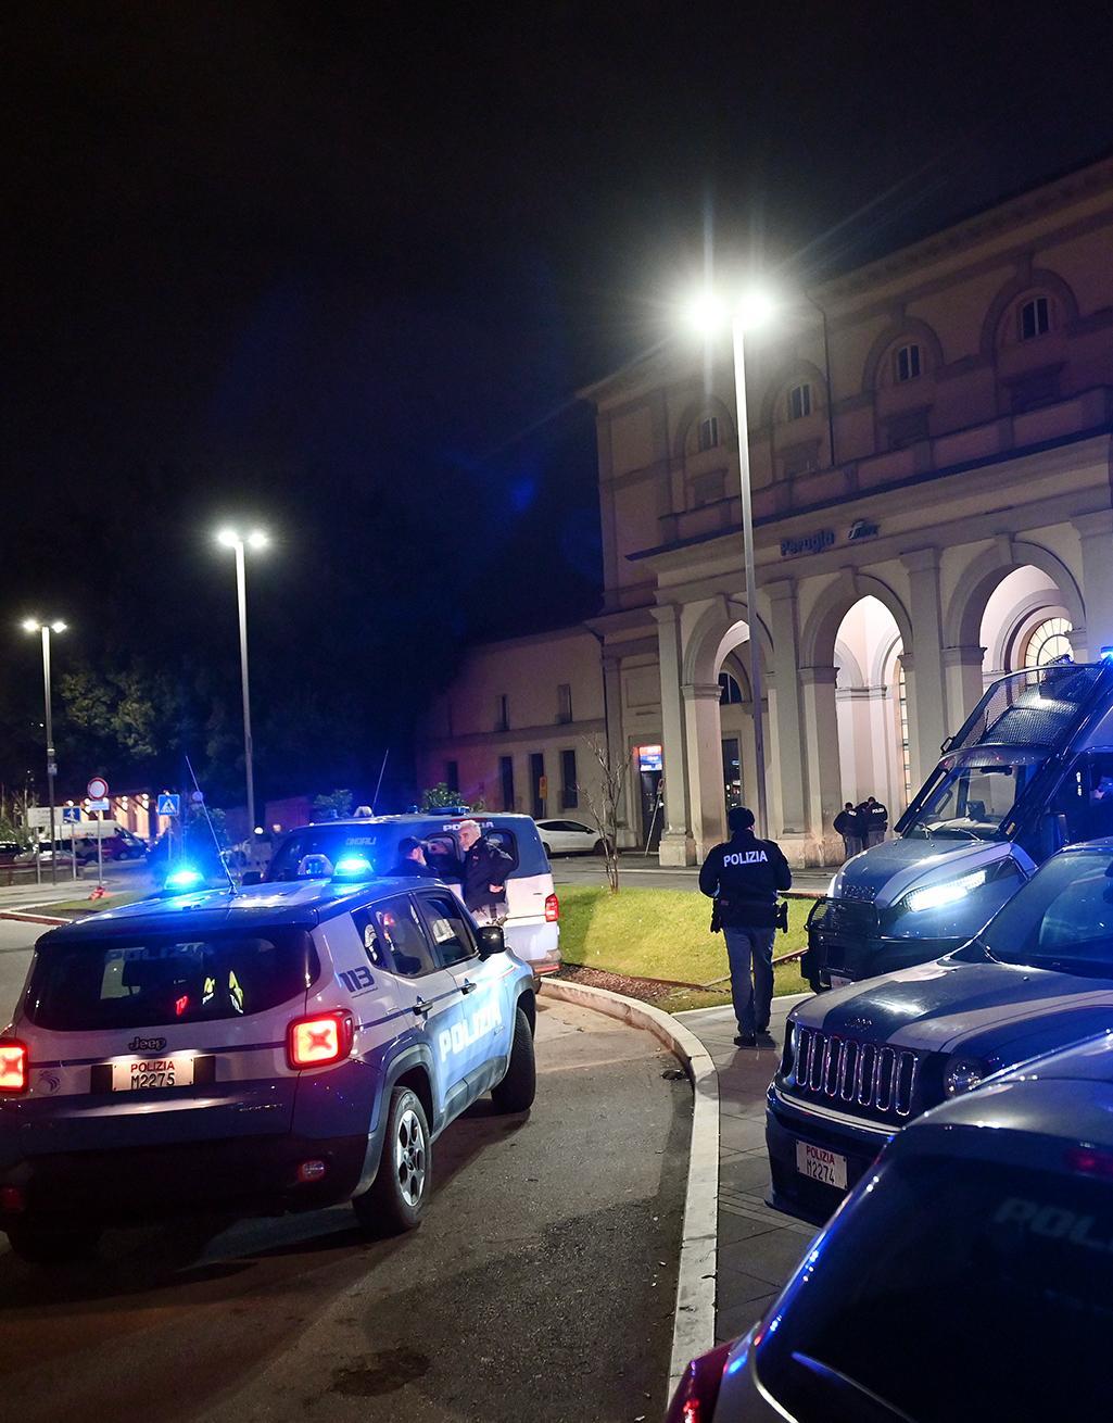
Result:
M814 904L813 989L959 948L1055 851L1113 834L1113 662L998 679L942 750L897 838Z

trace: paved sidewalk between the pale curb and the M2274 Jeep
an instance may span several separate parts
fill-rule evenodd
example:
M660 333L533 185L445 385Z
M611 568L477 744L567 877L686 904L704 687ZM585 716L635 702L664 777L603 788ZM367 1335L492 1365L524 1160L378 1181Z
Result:
M780 1292L816 1231L766 1205L766 1089L784 1042L784 1019L806 995L773 999L776 1047L736 1047L734 1012L700 1007L676 1020L707 1049L719 1073L719 1248L716 1340L746 1333Z

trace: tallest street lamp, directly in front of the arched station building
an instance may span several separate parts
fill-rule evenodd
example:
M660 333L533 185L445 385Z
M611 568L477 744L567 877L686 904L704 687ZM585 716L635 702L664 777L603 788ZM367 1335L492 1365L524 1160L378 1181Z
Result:
M757 834L769 825L766 803L766 729L761 723L761 655L757 646L757 581L753 566L753 494L750 487L750 431L746 414L746 332L764 326L776 310L769 292L751 287L727 306L714 292L700 292L687 307L689 324L712 337L730 323L734 346L734 400L737 404L739 471L742 477L742 551L746 562L746 612L750 623L750 690L753 693L753 743L757 763Z

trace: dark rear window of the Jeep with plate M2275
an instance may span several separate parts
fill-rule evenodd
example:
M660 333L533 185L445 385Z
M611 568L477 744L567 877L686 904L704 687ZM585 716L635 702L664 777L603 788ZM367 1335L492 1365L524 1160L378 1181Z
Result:
M288 1003L319 973L302 929L44 943L26 1012L56 1032L206 1023Z

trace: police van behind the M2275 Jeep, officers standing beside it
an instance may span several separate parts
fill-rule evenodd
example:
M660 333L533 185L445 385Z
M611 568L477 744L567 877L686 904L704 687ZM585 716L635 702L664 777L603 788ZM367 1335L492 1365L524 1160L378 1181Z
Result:
M320 874L322 864L327 874L343 855L364 855L376 874L387 874L397 861L399 841L406 835L426 845L431 867L451 864L464 854L458 828L468 820L475 821L484 838L511 859L500 905L507 943L535 973L555 973L561 966L561 905L545 847L529 815L488 815L457 805L407 815L364 815L303 825L275 845L266 879L285 884L307 878Z

